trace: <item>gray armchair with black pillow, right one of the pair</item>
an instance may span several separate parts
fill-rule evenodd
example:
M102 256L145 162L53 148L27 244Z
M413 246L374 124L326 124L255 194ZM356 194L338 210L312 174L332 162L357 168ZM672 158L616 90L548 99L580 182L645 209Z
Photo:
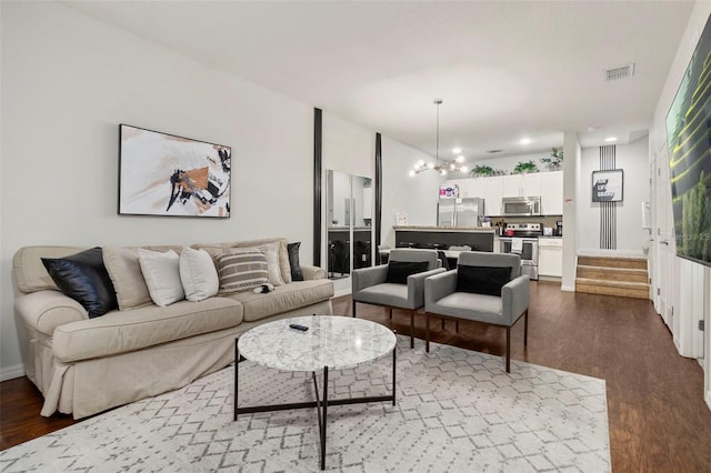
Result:
M425 350L430 351L430 316L470 320L507 329L507 373L511 365L511 326L523 316L528 344L529 276L518 254L462 252L457 270L424 281Z

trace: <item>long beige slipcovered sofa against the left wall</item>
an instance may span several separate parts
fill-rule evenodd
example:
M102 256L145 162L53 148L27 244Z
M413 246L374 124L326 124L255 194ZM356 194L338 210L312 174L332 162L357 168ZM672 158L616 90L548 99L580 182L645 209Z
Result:
M103 262L120 310L94 319L57 289L41 261L84 248L18 250L13 258L16 319L26 373L44 395L41 414L59 411L80 419L184 386L232 363L234 339L251 326L294 315L332 313L333 285L322 269L302 265L304 281L291 281L284 239L192 246L217 254L274 241L286 284L269 293L218 294L162 308L137 296L146 291L138 249L106 246ZM180 251L180 246L148 249Z

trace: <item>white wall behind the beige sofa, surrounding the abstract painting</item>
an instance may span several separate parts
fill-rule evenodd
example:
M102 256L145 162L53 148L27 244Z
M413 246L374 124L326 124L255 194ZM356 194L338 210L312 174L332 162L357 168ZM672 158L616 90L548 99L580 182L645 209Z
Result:
M22 374L10 278L20 246L279 235L311 261L311 105L59 3L1 9L0 379ZM117 215L119 123L231 145L232 217Z

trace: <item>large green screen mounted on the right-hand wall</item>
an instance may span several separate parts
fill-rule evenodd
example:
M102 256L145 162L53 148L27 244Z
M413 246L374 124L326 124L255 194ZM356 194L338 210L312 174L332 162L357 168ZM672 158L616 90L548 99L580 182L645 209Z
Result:
M667 114L677 255L711 266L711 18Z

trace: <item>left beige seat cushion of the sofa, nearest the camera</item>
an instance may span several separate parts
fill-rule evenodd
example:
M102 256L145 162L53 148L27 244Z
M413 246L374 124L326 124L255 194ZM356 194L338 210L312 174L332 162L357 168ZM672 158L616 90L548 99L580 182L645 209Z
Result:
M242 314L242 306L228 298L113 311L99 319L58 326L52 350L64 363L132 352L239 325ZM140 366L127 366L130 369L140 370Z

